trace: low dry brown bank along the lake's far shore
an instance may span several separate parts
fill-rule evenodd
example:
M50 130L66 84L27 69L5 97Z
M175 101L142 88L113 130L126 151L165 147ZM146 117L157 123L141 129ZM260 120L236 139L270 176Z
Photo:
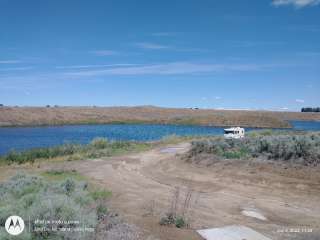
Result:
M95 123L161 123L288 128L287 120L320 121L319 113L159 107L1 107L0 127Z

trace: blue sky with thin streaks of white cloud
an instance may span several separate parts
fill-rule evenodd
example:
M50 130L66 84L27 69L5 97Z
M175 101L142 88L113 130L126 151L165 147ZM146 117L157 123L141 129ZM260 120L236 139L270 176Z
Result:
M320 0L0 0L0 103L320 105Z

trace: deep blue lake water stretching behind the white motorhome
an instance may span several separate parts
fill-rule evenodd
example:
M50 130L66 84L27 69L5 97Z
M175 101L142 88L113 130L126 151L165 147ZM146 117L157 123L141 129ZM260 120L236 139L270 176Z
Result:
M294 130L320 131L320 122L292 121ZM253 129L246 128L246 131ZM0 155L10 150L50 147L63 143L88 143L95 137L110 140L159 140L168 135L222 135L222 127L161 124L68 125L0 128Z

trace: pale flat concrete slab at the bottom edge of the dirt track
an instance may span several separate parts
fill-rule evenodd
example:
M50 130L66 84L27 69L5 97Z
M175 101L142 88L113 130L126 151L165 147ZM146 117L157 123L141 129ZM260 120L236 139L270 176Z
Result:
M231 225L197 231L205 240L271 240L251 228Z

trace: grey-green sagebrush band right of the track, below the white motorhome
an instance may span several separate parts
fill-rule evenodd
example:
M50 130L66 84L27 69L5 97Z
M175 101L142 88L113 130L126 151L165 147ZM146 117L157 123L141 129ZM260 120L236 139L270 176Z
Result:
M214 154L227 159L264 157L305 165L320 163L320 133L261 131L244 139L215 137L192 142L189 158Z

